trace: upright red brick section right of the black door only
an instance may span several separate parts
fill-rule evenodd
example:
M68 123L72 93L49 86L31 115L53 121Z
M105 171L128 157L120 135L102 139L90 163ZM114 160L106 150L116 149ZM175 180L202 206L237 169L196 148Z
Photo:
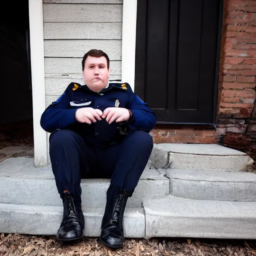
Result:
M218 123L231 132L245 132L252 121L255 76L256 1L224 0Z

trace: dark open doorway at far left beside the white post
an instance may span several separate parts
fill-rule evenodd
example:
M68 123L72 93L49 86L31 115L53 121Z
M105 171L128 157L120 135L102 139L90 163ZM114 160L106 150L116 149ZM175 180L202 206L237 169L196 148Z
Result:
M28 0L6 1L0 15L0 149L32 145Z

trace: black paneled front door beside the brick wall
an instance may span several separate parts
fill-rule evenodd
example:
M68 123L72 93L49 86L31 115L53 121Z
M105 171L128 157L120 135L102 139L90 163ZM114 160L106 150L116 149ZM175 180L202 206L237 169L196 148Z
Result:
M135 92L158 123L213 123L222 0L138 0Z

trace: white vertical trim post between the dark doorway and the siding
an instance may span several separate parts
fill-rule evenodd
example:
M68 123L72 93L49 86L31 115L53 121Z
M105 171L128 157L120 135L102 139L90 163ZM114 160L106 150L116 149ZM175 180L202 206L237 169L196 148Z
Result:
M46 132L40 126L45 109L42 0L29 0L30 59L33 100L34 165L47 166Z

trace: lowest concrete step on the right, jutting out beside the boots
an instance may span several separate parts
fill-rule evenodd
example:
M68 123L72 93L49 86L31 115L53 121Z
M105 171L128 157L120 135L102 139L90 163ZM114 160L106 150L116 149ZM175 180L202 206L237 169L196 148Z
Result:
M256 238L256 202L144 199L145 236Z

